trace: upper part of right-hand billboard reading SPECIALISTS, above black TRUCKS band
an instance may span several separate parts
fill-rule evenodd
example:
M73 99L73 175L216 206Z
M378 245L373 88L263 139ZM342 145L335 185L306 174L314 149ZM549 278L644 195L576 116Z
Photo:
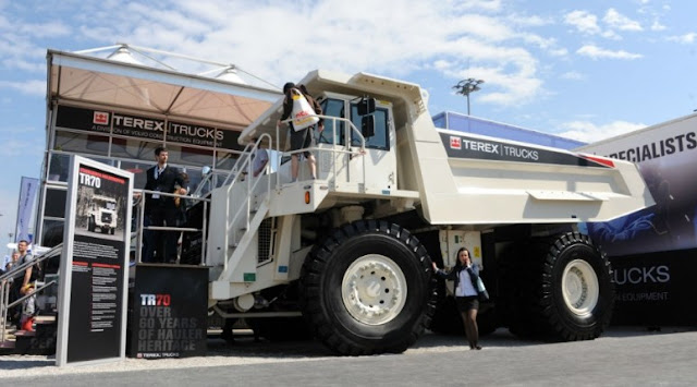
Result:
M697 247L697 114L577 150L637 164L656 205L588 232L610 256Z

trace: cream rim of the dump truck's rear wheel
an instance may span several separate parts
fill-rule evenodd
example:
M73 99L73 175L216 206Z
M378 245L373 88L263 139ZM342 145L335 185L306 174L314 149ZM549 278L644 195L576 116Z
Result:
M598 276L586 261L575 259L566 265L562 294L568 310L576 315L588 315L596 307L600 297Z

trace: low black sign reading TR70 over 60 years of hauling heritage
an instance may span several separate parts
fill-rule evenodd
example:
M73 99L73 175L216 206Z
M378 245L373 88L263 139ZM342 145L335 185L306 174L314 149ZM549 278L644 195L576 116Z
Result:
M138 265L130 355L138 359L205 355L207 302L208 268Z

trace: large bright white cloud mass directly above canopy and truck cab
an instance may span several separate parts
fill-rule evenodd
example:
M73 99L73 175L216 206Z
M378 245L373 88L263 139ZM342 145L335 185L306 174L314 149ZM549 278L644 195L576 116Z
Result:
M395 7L400 3L408 7ZM130 3L123 12L86 3L85 15L109 15L105 19L110 23L83 17L74 28L96 41L108 38L106 44L125 41L232 62L279 85L317 68L405 76L432 65L445 76L460 77L468 66L477 66L492 76L487 78L487 95L498 94L490 100L514 104L540 92L538 63L528 48L552 56L567 51L555 39L530 31L549 21L506 14L499 0L199 0ZM289 14L297 15L294 23L289 23ZM524 93L517 85L531 89Z

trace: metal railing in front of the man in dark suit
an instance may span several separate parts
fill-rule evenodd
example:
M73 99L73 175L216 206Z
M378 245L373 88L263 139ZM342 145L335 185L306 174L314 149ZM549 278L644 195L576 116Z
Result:
M143 263L143 243L144 243L144 232L146 231L167 231L167 232L201 232L201 253L200 253L200 266L206 266L206 231L208 227L208 206L210 205L210 199L205 197L194 197L191 195L180 195L174 193L166 193L160 191L150 191L150 190L133 190L136 194L136 201L134 202L134 206L138 208L137 215L137 225L136 225L136 250L135 257L137 263ZM181 201L191 201L191 202L201 202L203 203L203 222L201 228L195 227L178 227L178 226L144 226L145 225L145 206L146 206L146 195L157 194L166 197L179 197ZM191 207L194 207L192 205ZM179 259L181 261L181 258Z

